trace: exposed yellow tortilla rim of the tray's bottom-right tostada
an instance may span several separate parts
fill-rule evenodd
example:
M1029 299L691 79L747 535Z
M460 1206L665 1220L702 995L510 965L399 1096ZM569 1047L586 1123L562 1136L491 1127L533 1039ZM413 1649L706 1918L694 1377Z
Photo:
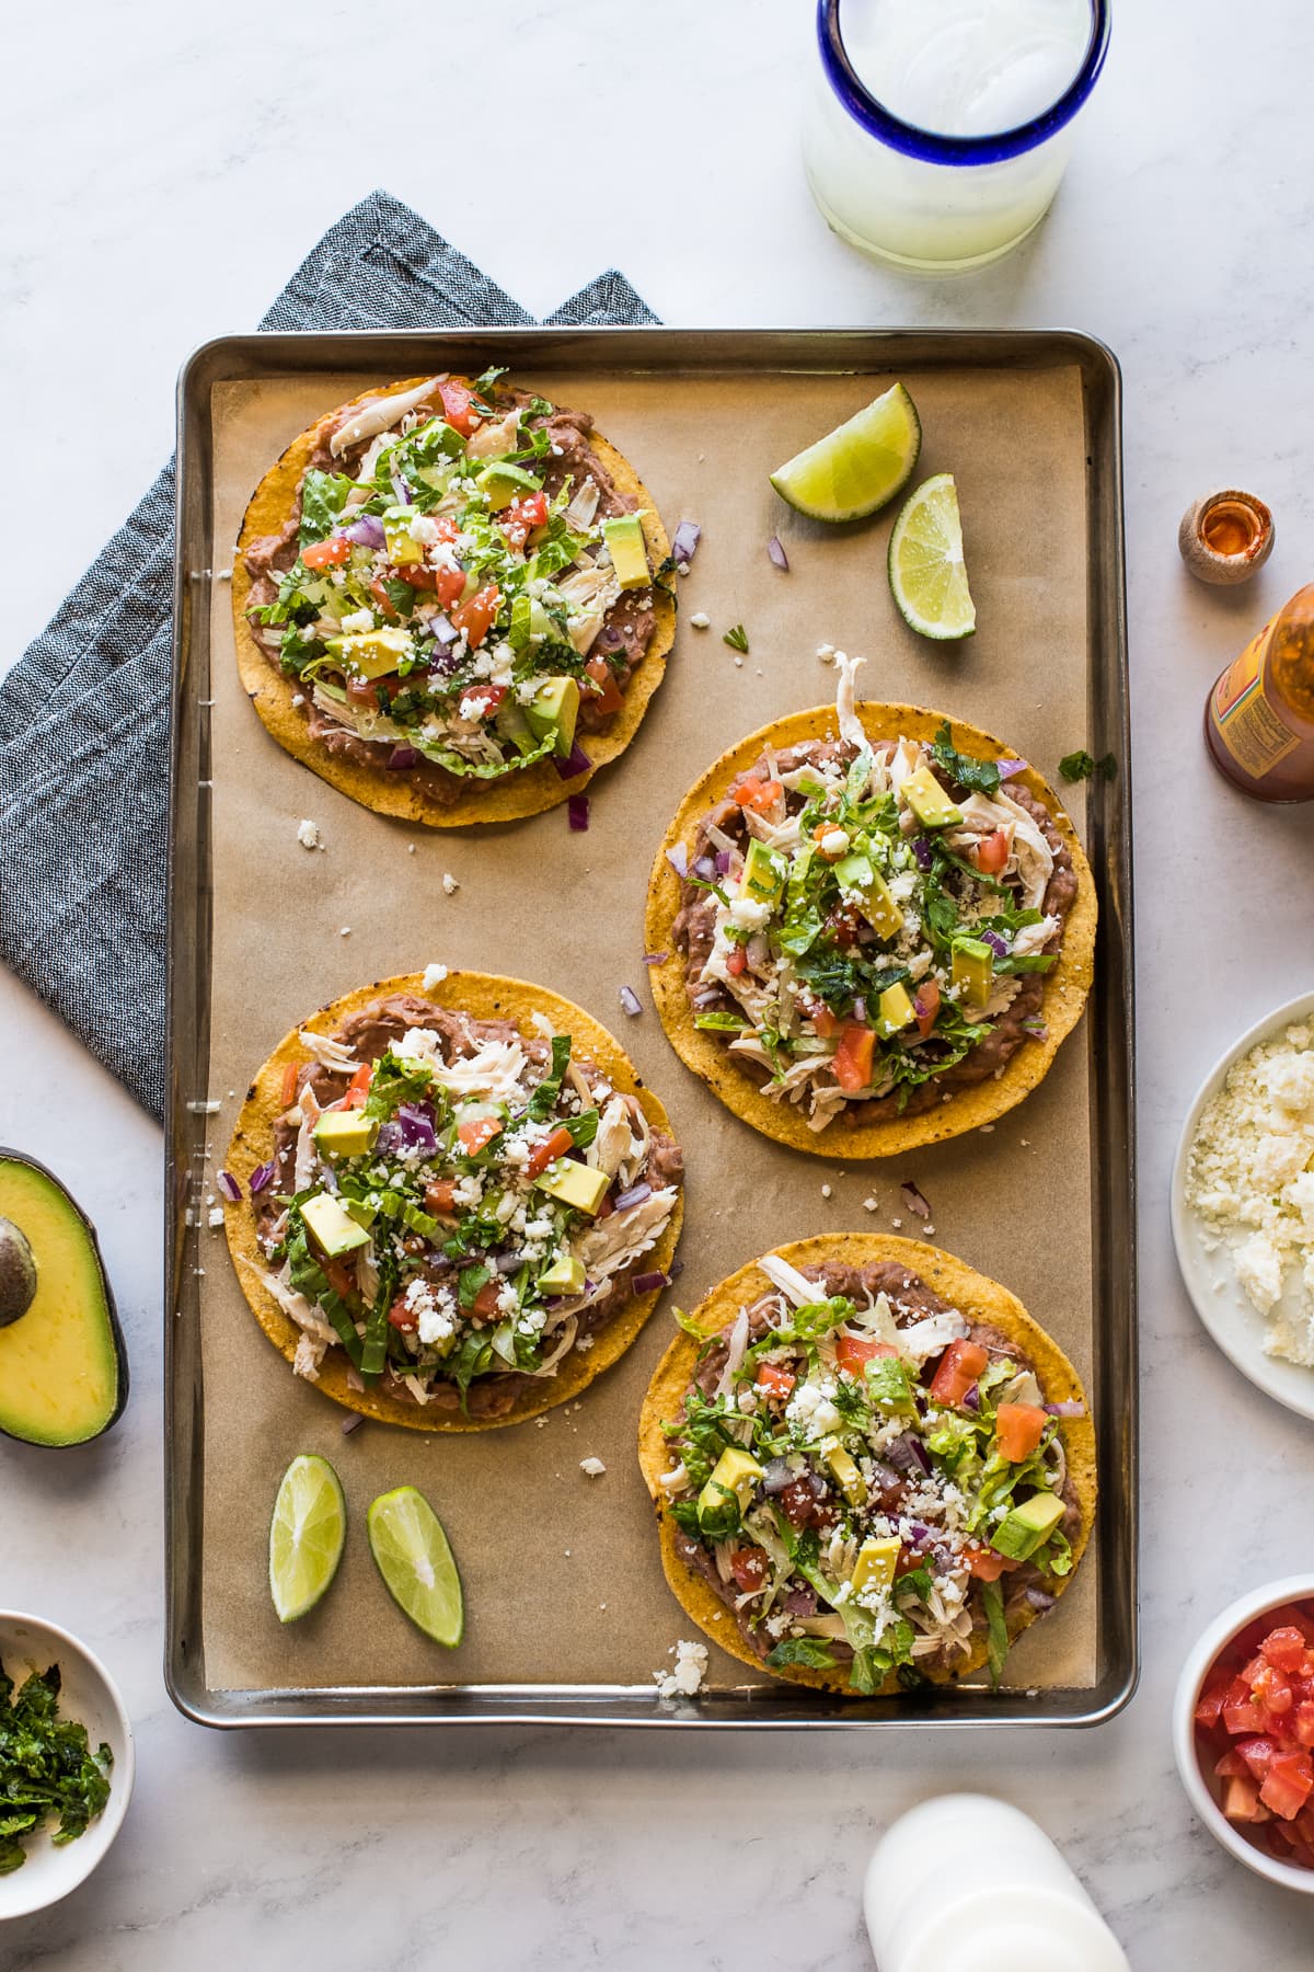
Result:
M953 1254L942 1252L938 1246L928 1246L922 1240L894 1238L881 1232L825 1232L818 1238L794 1240L788 1246L776 1246L772 1250L790 1266L800 1268L820 1264L823 1260L843 1260L849 1266L875 1266L883 1260L892 1260L906 1266L910 1274L918 1274L930 1288L934 1288L942 1300L946 1300L952 1307L957 1307L965 1321L989 1323L1015 1341L1017 1347L1030 1357L1036 1380L1044 1390L1046 1404L1072 1400L1085 1404L1085 1390L1082 1388L1076 1369L1058 1343L1052 1341L1052 1337L1046 1335L1036 1321L1032 1321L1017 1296L1009 1294L1007 1288L1001 1288L997 1280L977 1274L975 1268L967 1266L963 1260L955 1260ZM772 1282L760 1270L756 1260L753 1260L749 1266L741 1266L739 1272L729 1276L729 1280L723 1280L717 1288L713 1288L711 1294L707 1294L707 1298L693 1309L691 1319L697 1323L703 1337L719 1335L735 1321L741 1307L751 1307L756 1300L770 1292ZM672 1463L662 1422L670 1424L682 1416L684 1392L693 1380L697 1355L697 1341L682 1329L656 1367L638 1420L638 1465L642 1469L648 1495L656 1507L666 1582L686 1615L690 1615L721 1651L737 1656L743 1664L751 1664L758 1676L784 1678L790 1684L810 1684L816 1690L841 1692L845 1698L855 1698L857 1694L849 1690L843 1668L810 1670L806 1664L788 1664L780 1670L768 1670L762 1658L755 1656L739 1635L739 1629L721 1597L715 1595L711 1585L688 1568L676 1552L676 1522L666 1509L666 1491L660 1485L662 1473L670 1471ZM1082 1526L1072 1542L1070 1574L1052 1584L1052 1593L1056 1595L1062 1595L1076 1576L1082 1554L1089 1542L1091 1526L1095 1524L1095 1426L1089 1418L1089 1404L1085 1406L1084 1418L1064 1418L1062 1432L1068 1453L1068 1475L1078 1499ZM1038 1611L1030 1609L1030 1605L1011 1611L1009 1641L1028 1629L1030 1623L1036 1621L1036 1613ZM979 1637L971 1656L965 1656L955 1670L932 1670L928 1676L936 1684L955 1684L979 1670L985 1660L987 1641L985 1637ZM896 1674L890 1672L881 1688L881 1696L894 1694L900 1694L900 1684Z

